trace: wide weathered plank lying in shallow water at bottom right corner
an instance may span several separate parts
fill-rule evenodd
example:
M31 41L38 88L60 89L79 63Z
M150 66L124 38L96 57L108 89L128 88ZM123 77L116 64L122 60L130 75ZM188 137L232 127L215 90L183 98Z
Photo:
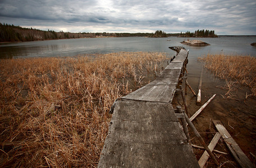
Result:
M224 139L228 149L235 157L236 161L239 163L241 167L254 167L249 158L244 154L235 140L231 137L230 133L228 133L227 129L223 126L220 120L212 120L218 132L220 132L222 138Z

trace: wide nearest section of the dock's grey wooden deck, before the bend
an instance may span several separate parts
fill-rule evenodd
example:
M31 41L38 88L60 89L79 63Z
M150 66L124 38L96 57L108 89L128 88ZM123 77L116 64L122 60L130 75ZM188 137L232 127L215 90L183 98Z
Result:
M116 102L98 165L111 166L199 167L172 105L140 101Z

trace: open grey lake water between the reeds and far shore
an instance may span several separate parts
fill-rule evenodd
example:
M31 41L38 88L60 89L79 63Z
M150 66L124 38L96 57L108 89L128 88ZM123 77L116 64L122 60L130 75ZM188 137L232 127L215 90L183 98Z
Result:
M168 46L181 46L186 38L86 38L47 41L31 41L22 43L0 44L0 58L28 57L67 57L79 54L112 53L112 52L165 52L175 55ZM191 38L192 39L192 38ZM193 38L200 39L200 38ZM192 59L208 53L250 54L256 57L255 36L236 36L220 38L202 38L209 46L185 46L190 50Z

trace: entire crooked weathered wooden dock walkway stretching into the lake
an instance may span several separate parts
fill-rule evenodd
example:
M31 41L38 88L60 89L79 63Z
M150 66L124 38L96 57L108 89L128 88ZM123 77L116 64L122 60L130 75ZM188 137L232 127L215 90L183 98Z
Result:
M98 167L199 167L171 105L187 57L116 101Z

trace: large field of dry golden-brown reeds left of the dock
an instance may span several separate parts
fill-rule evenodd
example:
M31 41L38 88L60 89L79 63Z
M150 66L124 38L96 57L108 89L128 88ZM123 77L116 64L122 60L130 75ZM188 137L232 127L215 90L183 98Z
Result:
M144 52L0 60L0 165L97 167L113 101L163 60Z

